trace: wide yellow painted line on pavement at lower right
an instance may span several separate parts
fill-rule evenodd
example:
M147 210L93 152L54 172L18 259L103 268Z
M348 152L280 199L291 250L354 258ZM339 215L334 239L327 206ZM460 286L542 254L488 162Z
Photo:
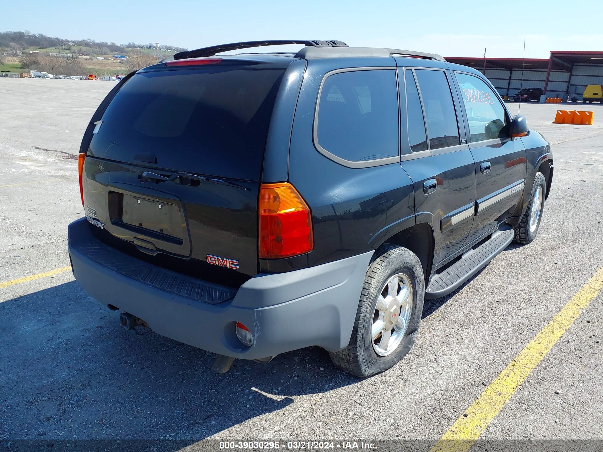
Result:
M576 293L552 320L537 334L498 377L479 395L478 400L459 417L431 452L466 452L500 409L505 406L517 387L551 350L561 334L567 331L576 318L603 289L603 267Z

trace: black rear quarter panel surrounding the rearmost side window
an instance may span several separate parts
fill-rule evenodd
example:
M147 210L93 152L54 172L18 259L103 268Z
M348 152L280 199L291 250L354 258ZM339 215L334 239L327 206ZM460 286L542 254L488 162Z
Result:
M318 88L326 72L345 67L396 66L393 58L311 60L295 110L289 152L289 181L312 210L319 265L374 250L415 223L412 181L400 163L348 168L317 151L312 140Z

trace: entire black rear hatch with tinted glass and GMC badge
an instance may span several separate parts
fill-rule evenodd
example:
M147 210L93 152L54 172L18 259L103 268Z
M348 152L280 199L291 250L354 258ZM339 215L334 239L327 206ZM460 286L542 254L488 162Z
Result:
M259 181L285 67L215 61L151 66L116 92L87 149L84 208L105 243L238 287L257 274Z

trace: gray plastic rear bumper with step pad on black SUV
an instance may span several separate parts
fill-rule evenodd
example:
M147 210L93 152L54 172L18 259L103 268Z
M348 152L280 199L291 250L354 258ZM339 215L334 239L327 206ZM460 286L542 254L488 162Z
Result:
M203 303L168 292L107 268L87 253L106 247L113 263L131 259L100 242L86 219L69 225L69 256L78 283L100 303L143 319L156 333L213 353L260 359L318 345L329 351L347 346L362 283L373 251L312 268L259 274L234 298ZM203 283L203 281L199 281ZM254 337L245 347L235 334L242 322Z

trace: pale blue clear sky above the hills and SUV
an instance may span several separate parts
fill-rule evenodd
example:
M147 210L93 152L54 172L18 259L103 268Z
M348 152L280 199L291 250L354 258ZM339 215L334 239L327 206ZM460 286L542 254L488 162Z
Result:
M338 39L353 46L444 56L547 58L551 50L603 50L601 0L110 1L2 0L0 31L189 49L260 39ZM589 25L589 11L598 20ZM284 50L293 51L288 46ZM274 49L283 50L283 49Z

